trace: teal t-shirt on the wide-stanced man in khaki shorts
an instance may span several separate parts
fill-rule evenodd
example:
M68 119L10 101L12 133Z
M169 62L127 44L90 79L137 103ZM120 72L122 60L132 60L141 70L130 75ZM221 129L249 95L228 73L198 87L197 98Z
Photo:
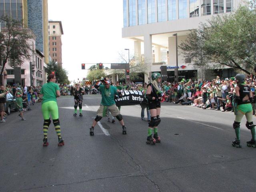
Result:
M101 103L104 106L110 106L110 105L114 105L115 100L114 100L114 96L118 95L118 92L116 91L116 87L110 85L110 87L108 89L106 89L105 85L100 85L99 90L101 92Z

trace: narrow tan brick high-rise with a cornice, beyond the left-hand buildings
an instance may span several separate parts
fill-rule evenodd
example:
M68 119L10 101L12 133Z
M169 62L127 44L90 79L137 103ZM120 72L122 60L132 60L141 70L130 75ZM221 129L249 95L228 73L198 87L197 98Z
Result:
M49 47L52 61L62 66L62 41L63 33L61 21L49 21Z

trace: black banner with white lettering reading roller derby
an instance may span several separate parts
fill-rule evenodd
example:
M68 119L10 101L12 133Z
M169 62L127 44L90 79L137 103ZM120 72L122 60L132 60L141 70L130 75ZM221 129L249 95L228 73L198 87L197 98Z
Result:
M146 105L148 101L141 91L136 90L121 90L122 96L115 99L116 106L125 105Z

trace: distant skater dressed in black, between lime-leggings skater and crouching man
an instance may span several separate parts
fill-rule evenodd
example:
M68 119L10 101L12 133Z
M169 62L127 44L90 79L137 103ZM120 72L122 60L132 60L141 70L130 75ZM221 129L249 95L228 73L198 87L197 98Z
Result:
M83 102L83 95L84 89L80 87L79 83L76 83L76 87L73 89L72 95L74 95L74 114L73 116L77 116L77 106L79 107L79 116L82 117L82 102Z

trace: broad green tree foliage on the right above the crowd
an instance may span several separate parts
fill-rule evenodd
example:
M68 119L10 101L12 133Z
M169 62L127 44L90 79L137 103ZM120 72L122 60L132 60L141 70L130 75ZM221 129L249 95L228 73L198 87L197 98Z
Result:
M241 6L212 17L180 45L196 66L219 64L250 74L256 66L256 9ZM200 62L201 61L201 62Z

